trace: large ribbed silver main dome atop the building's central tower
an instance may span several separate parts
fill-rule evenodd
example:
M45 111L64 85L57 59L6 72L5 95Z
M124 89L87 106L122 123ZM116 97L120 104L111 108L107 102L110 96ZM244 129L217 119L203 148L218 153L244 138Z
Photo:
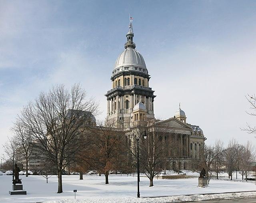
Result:
M145 61L142 55L133 48L125 49L116 59L114 70L123 66L136 66L139 68L146 68Z

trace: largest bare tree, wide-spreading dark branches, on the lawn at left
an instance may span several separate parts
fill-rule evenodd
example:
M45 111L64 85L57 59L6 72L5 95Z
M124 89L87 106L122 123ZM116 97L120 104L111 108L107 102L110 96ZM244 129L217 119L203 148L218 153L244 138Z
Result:
M52 161L58 171L58 193L62 193L62 171L75 162L75 155L86 141L86 129L97 103L86 100L86 92L79 84L67 90L53 86L28 103L19 116L22 125L33 137L33 147L42 153L38 158Z

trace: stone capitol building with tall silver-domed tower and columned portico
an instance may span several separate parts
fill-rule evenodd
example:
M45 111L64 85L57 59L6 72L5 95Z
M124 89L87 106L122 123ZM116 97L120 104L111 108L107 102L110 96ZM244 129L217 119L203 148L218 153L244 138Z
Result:
M165 139L175 141L168 149L168 157L172 160L170 168L174 169L179 164L180 169L187 169L191 166L191 160L200 159L199 150L203 147L206 137L199 125L187 123L186 114L180 107L169 119L155 119L156 95L149 84L150 75L146 63L135 49L132 23L126 38L124 51L114 64L111 89L105 94L107 119L114 122L116 129L122 129L126 135L131 135L141 121L154 121L156 129L164 129ZM134 140L130 142L134 143Z

